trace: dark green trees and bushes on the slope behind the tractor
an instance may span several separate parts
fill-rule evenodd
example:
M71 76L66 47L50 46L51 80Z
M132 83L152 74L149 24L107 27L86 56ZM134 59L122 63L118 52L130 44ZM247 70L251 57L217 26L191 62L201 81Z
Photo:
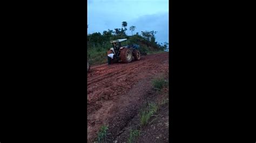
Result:
M133 32L136 29L136 26L130 26L129 30L132 32L132 35L129 36L126 34L127 31L127 22L122 23L122 27L114 28L114 30L95 32L87 35L87 57L89 61L93 63L104 63L106 58L106 52L109 48L112 47L110 41L117 39L127 39L127 44L138 44L141 51L144 52L154 52L154 51L164 51L167 48L168 43L160 44L156 41L155 34L157 31L142 31L141 34ZM87 28L90 28L87 25Z

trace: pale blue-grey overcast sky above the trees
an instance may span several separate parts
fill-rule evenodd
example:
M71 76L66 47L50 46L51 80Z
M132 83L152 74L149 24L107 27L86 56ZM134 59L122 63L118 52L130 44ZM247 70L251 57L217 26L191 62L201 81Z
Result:
M133 33L157 31L158 42L169 42L169 0L88 0L88 33L122 28L127 22L127 35L130 26L136 26Z

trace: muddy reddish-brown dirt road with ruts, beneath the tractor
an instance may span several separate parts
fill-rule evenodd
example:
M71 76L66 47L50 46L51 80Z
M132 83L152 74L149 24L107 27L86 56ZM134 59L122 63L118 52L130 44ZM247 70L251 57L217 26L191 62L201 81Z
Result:
M168 52L142 56L130 63L91 67L87 75L87 141L97 137L103 124L131 116L150 89L150 79L159 73L169 73ZM139 84L141 81L144 84ZM117 131L121 129L117 125Z

